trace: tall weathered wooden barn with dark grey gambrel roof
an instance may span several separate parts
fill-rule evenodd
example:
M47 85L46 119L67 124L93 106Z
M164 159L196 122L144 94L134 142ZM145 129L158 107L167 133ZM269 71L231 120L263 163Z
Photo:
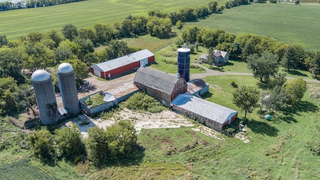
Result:
M150 67L139 67L133 78L134 84L148 95L170 107L170 102L178 94L185 93L186 81L179 75L174 76Z

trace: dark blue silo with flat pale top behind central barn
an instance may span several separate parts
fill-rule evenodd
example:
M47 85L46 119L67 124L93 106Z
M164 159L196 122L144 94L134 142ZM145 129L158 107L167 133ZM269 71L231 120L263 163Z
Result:
M190 78L190 49L178 48L178 73L185 81L189 81Z

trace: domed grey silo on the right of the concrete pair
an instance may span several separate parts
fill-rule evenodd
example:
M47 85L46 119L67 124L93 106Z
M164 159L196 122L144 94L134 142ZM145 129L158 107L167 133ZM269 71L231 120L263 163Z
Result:
M63 62L56 71L63 102L63 107L72 114L80 112L74 71L71 64Z

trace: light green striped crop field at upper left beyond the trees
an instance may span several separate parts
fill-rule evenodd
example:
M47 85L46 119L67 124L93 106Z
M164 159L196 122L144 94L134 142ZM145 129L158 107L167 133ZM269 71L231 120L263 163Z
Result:
M28 32L62 29L72 23L76 27L92 26L94 22L113 24L126 16L147 16L149 10L174 12L181 7L207 5L210 0L86 0L41 8L0 11L0 34L15 40ZM226 0L218 0L224 4Z

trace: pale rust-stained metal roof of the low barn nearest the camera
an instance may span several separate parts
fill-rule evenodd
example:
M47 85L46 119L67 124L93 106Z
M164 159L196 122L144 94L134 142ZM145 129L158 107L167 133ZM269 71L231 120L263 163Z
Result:
M178 106L221 124L237 113L236 110L187 94L176 96L171 101L171 105Z

